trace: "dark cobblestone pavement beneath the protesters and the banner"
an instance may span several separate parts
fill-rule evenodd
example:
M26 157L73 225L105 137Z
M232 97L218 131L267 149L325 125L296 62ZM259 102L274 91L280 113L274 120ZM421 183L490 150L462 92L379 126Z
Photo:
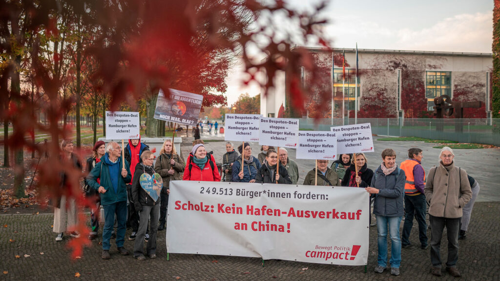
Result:
M500 271L500 202L476 203L465 240L460 240L457 266L462 280L498 280ZM373 272L376 265L376 228L369 231L367 272L364 266L338 266L286 260L268 260L262 267L259 258L171 254L166 260L165 231L157 238L157 258L144 261L121 256L111 241L111 259L100 257L100 238L92 241L79 259L70 260L68 236L54 240L52 214L0 215L0 280L453 280L443 272L441 278L429 273L430 249L402 249L401 274L386 270ZM4 227L6 225L6 227ZM418 244L416 222L410 241ZM126 237L130 234L127 230ZM101 235L99 231L99 236ZM430 236L430 230L427 231ZM11 239L11 241L10 241ZM388 239L390 241L390 239ZM442 249L446 248L446 238ZM125 239L132 250L133 241ZM390 250L390 243L389 243ZM43 252L43 254L41 254ZM24 257L24 254L30 256ZM16 258L15 255L19 255ZM446 259L446 251L442 252ZM307 270L301 270L307 267ZM7 271L6 274L2 271ZM81 276L75 278L78 272ZM177 277L180 277L177 279Z

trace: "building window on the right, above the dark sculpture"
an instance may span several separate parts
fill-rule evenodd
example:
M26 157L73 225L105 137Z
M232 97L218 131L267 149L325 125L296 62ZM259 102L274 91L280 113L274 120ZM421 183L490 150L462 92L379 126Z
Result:
M451 72L426 71L425 97L427 97L427 110L434 110L434 97L443 94L451 97Z

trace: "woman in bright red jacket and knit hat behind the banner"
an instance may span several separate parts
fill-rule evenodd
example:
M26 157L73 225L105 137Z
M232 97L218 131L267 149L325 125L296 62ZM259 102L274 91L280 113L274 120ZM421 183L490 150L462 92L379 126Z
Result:
M205 145L195 144L191 154L186 161L182 180L220 181L217 165L211 155L206 155Z

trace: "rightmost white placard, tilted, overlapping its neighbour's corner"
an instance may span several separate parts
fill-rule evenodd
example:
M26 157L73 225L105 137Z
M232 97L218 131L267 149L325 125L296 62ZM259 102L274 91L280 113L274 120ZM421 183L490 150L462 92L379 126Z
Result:
M330 127L337 133L337 153L373 152L371 124L355 124Z

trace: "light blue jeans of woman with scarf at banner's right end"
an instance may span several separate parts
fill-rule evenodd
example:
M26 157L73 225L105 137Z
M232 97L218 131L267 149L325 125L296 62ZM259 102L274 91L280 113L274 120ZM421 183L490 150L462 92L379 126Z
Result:
M401 240L399 239L399 224L402 216L376 216L378 232L378 265L387 266L387 223L390 234L390 267L399 268L401 264Z

